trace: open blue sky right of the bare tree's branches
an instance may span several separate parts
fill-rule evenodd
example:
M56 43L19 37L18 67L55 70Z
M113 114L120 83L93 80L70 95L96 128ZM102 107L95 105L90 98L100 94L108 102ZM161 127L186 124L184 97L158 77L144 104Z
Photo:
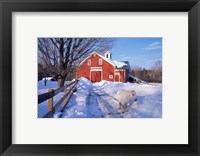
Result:
M112 60L149 69L156 61L162 61L162 38L115 38L110 52Z

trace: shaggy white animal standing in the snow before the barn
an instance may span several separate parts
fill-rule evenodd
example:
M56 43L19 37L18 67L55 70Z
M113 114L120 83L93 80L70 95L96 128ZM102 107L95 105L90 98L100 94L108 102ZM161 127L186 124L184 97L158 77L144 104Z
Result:
M137 107L137 97L134 90L120 89L117 91L116 97L120 104L119 109L122 109L123 111L127 110L128 105L134 105L134 107Z

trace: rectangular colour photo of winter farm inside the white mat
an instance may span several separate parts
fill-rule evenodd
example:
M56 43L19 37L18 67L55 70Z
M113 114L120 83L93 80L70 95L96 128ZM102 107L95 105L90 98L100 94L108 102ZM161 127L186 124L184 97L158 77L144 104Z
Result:
M162 38L38 38L38 118L162 118Z

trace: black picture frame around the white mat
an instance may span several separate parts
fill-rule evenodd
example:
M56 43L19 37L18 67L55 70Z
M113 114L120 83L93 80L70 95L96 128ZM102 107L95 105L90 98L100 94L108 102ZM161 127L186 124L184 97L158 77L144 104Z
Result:
M188 145L14 145L12 144L12 12L188 12ZM199 0L0 0L1 155L200 155ZM177 123L178 125L178 123ZM175 127L174 127L175 128ZM31 133L31 132L30 132ZM89 136L88 136L89 137ZM169 136L170 137L170 136Z

